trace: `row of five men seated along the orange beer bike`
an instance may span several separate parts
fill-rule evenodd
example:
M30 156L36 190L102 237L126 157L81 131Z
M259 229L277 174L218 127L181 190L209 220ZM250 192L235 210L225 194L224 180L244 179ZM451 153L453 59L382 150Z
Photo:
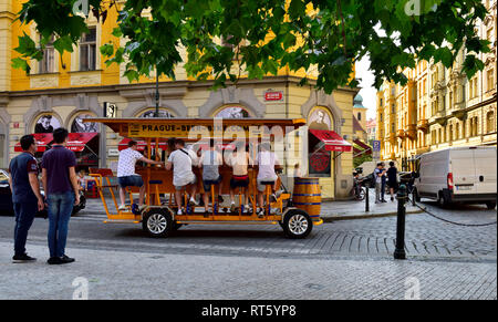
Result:
M120 186L120 199L121 206L118 210L125 210L127 207L125 205L126 187L135 186L139 188L138 197L138 210L145 208L144 196L145 196L145 184L142 176L135 173L135 166L137 162L143 162L151 165L165 165L166 170L173 170L173 186L175 187L175 201L177 205L177 214L184 215L187 211L183 206L183 195L188 193L189 199L188 205L190 207L199 206L196 200L197 195L197 181L198 178L193 170L194 167L199 167L201 169L201 180L204 187L203 201L205 207L205 215L212 214L209 210L209 195L211 193L211 186L218 186L218 191L216 197L212 198L212 207L215 207L216 200L218 204L224 202L221 196L222 188L222 176L219 172L220 166L225 164L231 167L231 178L230 178L230 211L235 212L236 202L235 195L237 189L241 189L239 193L242 194L243 190L243 205L240 206L243 209L243 214L251 215L252 207L249 206L249 173L248 168L251 166L258 166L257 176L257 201L258 208L256 214L259 218L264 216L264 198L263 194L268 185L272 187L272 194L270 200L276 200L274 191L277 190L277 170L281 169L281 163L276 153L271 152L271 145L267 142L259 145L259 152L255 159L246 150L245 142L237 142L236 149L234 152L224 154L215 146L215 139L209 139L209 145L207 148L200 148L196 153L191 146L187 148L185 142L181 138L175 138L172 141L173 152L169 154L166 163L159 160L153 160L144 157L138 152L138 144L135 141L128 143L128 147L120 153L118 165L117 165L117 181Z

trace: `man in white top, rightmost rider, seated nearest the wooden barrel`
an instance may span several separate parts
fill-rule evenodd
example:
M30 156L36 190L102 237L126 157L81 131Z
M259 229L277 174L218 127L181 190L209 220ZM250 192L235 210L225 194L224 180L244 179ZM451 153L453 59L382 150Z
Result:
M271 146L269 143L264 142L260 145L260 152L258 153L258 204L261 209L258 211L258 217L263 216L264 212L264 202L263 202L263 193L266 189L266 185L262 183L271 181L273 183L273 190L277 188L274 187L277 184L278 176L274 172L274 168L281 168L279 157L277 154L271 152ZM273 199L276 198L274 195L272 195Z

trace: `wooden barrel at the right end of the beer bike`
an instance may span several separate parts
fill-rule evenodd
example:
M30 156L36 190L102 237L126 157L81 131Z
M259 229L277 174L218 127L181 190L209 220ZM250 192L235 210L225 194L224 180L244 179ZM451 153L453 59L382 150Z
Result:
M311 219L319 218L322 208L319 178L295 178L292 201L295 208L307 211Z

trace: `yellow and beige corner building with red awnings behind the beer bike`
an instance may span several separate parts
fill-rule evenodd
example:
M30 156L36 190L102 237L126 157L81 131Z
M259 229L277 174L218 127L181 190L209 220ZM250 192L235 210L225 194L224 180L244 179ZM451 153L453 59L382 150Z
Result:
M60 56L49 45L43 60L31 62L29 75L12 69L11 60L19 55L14 51L18 37L25 32L40 40L34 25L14 21L21 7L20 0L0 2L0 168L20 153L22 135L35 135L40 158L50 146L52 132L65 127L70 131L68 147L77 157L76 170L115 170L118 152L127 138L102 124L82 120L154 116L155 76L128 83L123 76L124 64L105 65L98 48L110 41L124 43L112 34L117 18L114 10L105 23L90 13L90 30L72 53ZM180 52L186 56L185 50ZM314 89L315 76L313 67L305 72L282 69L278 75L261 80L242 74L237 85L212 91L212 81L198 82L187 76L179 64L175 81L159 79L159 117L304 118L310 128L305 152L309 157L308 170L301 175L320 178L324 200L347 198L353 186L353 98L360 89L340 87L328 95ZM309 85L299 85L302 77L309 79ZM288 187L292 187L292 176L286 174L294 167L284 165Z

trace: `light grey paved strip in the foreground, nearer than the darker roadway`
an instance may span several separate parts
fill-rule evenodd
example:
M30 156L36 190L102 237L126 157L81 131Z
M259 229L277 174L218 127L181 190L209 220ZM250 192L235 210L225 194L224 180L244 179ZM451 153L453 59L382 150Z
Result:
M71 299L77 277L89 281L89 299L497 299L496 262L70 249L76 262L52 267L12 264L6 247L0 242L0 299ZM31 249L43 258L43 247Z

